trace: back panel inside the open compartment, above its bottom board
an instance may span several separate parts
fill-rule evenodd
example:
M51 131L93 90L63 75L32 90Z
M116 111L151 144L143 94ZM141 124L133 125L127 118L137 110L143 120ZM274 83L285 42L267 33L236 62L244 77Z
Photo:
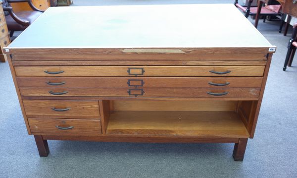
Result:
M119 101L114 111L236 111L238 101Z

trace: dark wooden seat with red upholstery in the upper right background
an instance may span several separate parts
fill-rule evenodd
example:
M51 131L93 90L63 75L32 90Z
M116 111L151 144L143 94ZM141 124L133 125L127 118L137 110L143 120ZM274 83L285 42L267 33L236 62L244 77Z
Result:
M249 15L256 15L257 13L257 7L251 7L251 3L253 0L248 0L247 7L244 7L238 3L238 0L235 0L234 5L242 10L245 13L245 16L248 17ZM261 8L260 15L262 16L276 16L276 15L282 15L280 12L282 9L282 5L266 5L263 8ZM264 18L264 22L265 22Z

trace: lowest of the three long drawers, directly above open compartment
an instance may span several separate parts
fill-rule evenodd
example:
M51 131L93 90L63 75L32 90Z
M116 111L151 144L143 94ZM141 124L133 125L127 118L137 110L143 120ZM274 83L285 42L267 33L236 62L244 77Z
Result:
M260 88L43 88L20 87L22 96L258 97Z

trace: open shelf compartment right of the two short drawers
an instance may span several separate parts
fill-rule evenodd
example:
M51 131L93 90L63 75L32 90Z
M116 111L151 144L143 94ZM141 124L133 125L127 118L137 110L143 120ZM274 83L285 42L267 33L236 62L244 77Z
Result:
M249 137L238 101L105 102L108 135Z

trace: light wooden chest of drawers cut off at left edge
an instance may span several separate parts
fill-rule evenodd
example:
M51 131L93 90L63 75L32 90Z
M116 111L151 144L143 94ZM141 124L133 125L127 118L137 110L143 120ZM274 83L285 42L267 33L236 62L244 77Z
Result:
M8 29L5 21L5 15L2 9L2 1L0 1L0 61L6 61L6 55L3 54L2 48L10 44L10 38L8 36Z

